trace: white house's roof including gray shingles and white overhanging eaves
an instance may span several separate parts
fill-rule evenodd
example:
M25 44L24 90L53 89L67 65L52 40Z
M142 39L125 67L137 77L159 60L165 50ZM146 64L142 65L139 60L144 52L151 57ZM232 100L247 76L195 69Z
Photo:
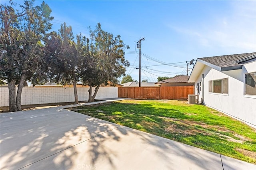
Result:
M256 52L198 58L188 82L194 82L205 65L218 71L230 71L242 69L243 64L250 61L256 61Z

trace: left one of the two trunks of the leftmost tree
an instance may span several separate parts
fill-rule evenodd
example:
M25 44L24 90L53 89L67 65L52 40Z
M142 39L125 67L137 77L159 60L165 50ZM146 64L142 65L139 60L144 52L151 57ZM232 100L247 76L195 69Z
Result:
M15 80L8 82L9 89L9 111L16 112L16 90L15 90Z

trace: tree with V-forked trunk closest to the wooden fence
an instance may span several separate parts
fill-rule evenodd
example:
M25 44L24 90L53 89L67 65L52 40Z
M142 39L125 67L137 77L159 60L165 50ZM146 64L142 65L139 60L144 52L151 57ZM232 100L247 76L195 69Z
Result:
M114 36L102 30L100 23L95 30L90 29L90 38L78 36L78 45L82 51L80 75L85 85L89 85L89 99L96 97L100 85L114 82L125 73L129 62L124 58L124 49L129 48L120 36ZM83 47L82 47L83 46ZM92 88L95 87L94 94Z

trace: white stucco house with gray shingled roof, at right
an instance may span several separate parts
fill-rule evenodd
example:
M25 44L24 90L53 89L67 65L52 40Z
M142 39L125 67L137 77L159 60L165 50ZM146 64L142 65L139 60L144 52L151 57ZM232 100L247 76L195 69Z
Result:
M256 128L256 52L198 58L188 83L200 103Z

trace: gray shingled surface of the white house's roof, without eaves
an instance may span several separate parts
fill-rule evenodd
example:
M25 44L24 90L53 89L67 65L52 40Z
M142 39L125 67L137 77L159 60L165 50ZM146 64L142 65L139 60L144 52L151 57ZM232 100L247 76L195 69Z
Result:
M221 56L214 56L214 57L203 57L203 58L198 58L198 59L206 61L207 63L211 63L218 67L230 67L230 66L241 65L240 63L238 63L236 61L246 59L246 58L249 59L249 58L253 58L253 57L256 57L256 52L233 54L233 55L221 55Z

